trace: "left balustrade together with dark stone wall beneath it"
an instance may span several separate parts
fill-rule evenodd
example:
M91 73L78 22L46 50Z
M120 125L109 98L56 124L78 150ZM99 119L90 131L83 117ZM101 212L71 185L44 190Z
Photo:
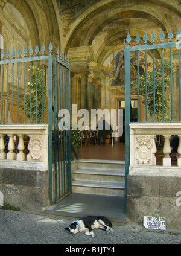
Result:
M8 153L4 135L10 138ZM4 203L22 211L41 212L49 205L48 124L0 126L0 191Z

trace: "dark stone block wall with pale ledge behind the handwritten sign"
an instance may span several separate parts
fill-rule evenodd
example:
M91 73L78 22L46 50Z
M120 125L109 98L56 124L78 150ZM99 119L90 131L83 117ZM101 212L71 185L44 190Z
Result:
M127 217L141 223L144 216L165 217L167 227L181 228L179 167L130 167Z

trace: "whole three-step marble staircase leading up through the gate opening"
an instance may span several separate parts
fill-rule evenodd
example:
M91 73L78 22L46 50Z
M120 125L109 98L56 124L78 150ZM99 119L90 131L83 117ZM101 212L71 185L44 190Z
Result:
M72 192L124 196L124 161L80 159L72 171Z

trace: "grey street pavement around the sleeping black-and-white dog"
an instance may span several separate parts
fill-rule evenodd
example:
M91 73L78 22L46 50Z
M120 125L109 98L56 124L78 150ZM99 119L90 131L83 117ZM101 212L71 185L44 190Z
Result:
M74 219L0 210L0 244L181 244L180 230L151 231L136 223L113 223L113 233L96 229L95 238L64 228Z

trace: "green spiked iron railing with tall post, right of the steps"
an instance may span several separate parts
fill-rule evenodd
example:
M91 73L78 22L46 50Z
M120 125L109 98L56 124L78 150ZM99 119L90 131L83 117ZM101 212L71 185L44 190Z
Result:
M159 39L156 35L148 39L147 33L142 39L135 38L136 46L130 46L132 38L128 33L127 47L124 49L125 62L125 211L127 203L127 176L130 167L130 121L132 117L131 90L137 94L137 121L139 123L181 121L181 83L180 83L180 38L168 34L168 39L161 30ZM164 39L165 42L164 43ZM144 45L140 45L140 42ZM151 57L151 64L149 59ZM136 77L132 77L135 69ZM141 112L141 100L143 103ZM173 104L173 102L176 102Z

